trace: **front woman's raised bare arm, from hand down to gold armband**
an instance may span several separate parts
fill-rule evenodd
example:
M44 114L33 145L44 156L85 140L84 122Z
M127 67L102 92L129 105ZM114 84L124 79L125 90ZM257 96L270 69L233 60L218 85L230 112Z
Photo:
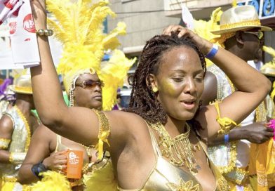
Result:
M45 0L31 1L31 5L36 30L46 29ZM48 37L37 35L37 41L41 65L32 67L31 73L34 103L42 123L76 142L86 145L96 143L99 121L95 113L84 107L67 107L53 65Z

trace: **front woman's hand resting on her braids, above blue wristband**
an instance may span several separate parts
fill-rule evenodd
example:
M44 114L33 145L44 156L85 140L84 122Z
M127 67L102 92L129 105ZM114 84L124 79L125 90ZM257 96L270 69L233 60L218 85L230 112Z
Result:
M200 48L200 50L202 51L202 53L204 55L209 53L209 51L213 47L212 43L210 43L206 39L199 37L199 35L192 32L192 30L189 30L189 29L182 27L180 25L170 25L170 26L166 27L165 29L163 29L162 34L171 35L171 32L179 32L177 34L177 36L179 38L185 36L185 37L189 37L190 39L192 39L192 41L196 44L196 46L198 46Z

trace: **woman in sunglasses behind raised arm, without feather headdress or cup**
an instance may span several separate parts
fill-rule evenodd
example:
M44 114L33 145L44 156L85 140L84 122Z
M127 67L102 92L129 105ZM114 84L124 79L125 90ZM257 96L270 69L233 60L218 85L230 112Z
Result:
M98 74L89 71L82 71L83 73L71 81L72 86L69 88L68 94L70 95L69 103L70 106L102 110L102 86L104 84L98 78ZM65 87L68 90L68 87ZM42 178L42 176L39 176L39 172L48 170L65 174L67 150L83 151L83 174L87 174L90 170L88 169L89 164L97 162L96 150L92 147L84 147L79 143L59 136L46 126L39 126L32 136L27 157L19 171L18 181L21 184L36 183ZM38 168L42 170L37 170ZM83 190L83 180L70 179L69 182L72 190ZM64 186L62 183L60 184L58 186Z

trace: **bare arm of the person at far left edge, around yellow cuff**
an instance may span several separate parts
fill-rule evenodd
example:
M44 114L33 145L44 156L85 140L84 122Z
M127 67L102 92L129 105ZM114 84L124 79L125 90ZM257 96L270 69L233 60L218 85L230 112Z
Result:
M0 138L10 139L13 134L13 121L7 115L4 115L0 119ZM0 162L1 163L11 163L9 161L10 152L5 149L0 150Z

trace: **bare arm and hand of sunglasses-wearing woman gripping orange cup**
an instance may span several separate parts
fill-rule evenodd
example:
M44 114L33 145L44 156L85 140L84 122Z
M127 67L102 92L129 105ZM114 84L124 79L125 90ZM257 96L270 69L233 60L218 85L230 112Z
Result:
M32 166L34 164L42 162L47 169L57 170L56 165L67 163L67 157L62 154L66 151L51 154L56 145L53 144L54 139L56 139L55 133L46 128L46 126L41 125L36 129L32 136L27 156L18 173L18 181L21 184L35 183L39 180L32 173Z

